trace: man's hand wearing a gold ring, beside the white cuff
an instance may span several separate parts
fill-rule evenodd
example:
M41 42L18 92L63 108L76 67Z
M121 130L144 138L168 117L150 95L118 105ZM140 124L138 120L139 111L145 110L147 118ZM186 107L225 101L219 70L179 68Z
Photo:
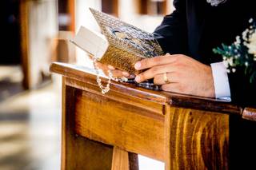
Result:
M215 97L214 78L209 65L204 65L182 54L144 59L134 65L146 69L135 78L137 82L154 78L154 84L162 90L201 97ZM164 74L169 82L166 83Z

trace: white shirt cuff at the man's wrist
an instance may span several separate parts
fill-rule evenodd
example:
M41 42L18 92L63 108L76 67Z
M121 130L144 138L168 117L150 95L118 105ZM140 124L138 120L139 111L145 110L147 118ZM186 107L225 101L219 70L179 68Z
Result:
M225 65L223 62L215 62L210 64L210 66L214 77L215 97L218 99L231 101L230 83Z

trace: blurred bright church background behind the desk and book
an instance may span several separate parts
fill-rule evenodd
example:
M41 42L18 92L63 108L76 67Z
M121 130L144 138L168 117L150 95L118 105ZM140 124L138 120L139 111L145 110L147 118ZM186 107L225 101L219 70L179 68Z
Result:
M0 57L0 170L60 169L61 61L92 67L70 44L80 26L100 31L89 7L153 32L172 0L2 0ZM139 156L140 169L163 169Z

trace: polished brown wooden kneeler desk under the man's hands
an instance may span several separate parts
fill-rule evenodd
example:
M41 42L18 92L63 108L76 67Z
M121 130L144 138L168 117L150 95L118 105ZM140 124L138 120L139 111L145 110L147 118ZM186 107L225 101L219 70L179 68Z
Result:
M93 70L50 70L62 75L62 169L138 169L137 154L166 169L229 167L229 117L240 107L118 82L103 95Z

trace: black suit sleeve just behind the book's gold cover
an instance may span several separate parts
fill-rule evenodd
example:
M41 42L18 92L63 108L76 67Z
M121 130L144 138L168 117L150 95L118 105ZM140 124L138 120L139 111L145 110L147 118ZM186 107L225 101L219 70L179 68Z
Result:
M165 53L186 54L186 1L174 0L174 7L176 10L172 14L166 15L162 24L154 30L154 37Z

